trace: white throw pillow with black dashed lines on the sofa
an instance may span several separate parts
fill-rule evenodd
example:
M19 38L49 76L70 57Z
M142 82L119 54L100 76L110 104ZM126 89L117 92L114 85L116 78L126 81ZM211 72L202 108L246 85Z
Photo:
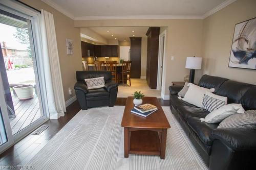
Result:
M205 92L203 102L202 102L202 108L208 110L209 112L212 112L226 104L227 104L226 97L216 95L211 92Z

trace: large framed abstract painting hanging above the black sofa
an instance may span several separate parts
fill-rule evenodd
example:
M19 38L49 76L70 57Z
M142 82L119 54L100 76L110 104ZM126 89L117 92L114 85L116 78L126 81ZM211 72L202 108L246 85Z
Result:
M234 27L228 66L256 69L256 17Z

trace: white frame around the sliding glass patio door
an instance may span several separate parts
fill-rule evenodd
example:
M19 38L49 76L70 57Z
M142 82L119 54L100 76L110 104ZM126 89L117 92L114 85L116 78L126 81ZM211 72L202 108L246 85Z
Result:
M33 45L34 45L34 52L35 52L35 60L36 60L36 68L37 68L37 77L40 81L38 84L38 87L40 89L40 98L42 103L42 112L44 112L44 116L37 119L33 124L27 126L22 131L16 133L13 136L14 143L34 131L37 127L39 127L41 124L45 123L49 119L49 110L47 105L47 93L46 93L46 80L42 76L42 68L44 66L42 65L42 62L44 62L43 56L42 56L42 42L41 42L41 36L40 36L40 14L38 11L32 10L18 2L15 1L3 1L0 2L0 4L3 4L3 6L0 6L1 10L4 10L6 12L15 14L17 16L21 16L23 18L29 19L31 21L32 26L32 36L33 36ZM0 79L0 84L2 84L2 79ZM1 90L1 89L0 89ZM3 101L5 102L5 100ZM9 121L9 119L8 119ZM12 132L11 132L12 133ZM13 143L13 144L14 144Z

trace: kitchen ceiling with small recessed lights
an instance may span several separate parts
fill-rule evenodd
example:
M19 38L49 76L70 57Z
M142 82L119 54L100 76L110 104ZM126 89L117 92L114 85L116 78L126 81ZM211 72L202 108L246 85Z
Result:
M146 37L148 27L91 27L91 30L108 40L130 41L130 37ZM109 31L109 32L108 32ZM134 33L132 32L134 31ZM114 35L112 37L112 35Z

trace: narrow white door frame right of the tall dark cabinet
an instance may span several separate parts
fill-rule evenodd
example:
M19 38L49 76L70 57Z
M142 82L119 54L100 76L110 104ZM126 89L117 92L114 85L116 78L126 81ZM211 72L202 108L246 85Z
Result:
M157 69L157 90L161 90L164 92L164 83L165 79L163 79L163 72L165 69L165 64L163 61L165 61L165 51L166 51L166 30L164 30L160 35L159 35L159 48L158 48L158 69ZM161 69L162 65L162 69ZM162 96L162 95L161 95ZM163 98L163 96L162 96Z

